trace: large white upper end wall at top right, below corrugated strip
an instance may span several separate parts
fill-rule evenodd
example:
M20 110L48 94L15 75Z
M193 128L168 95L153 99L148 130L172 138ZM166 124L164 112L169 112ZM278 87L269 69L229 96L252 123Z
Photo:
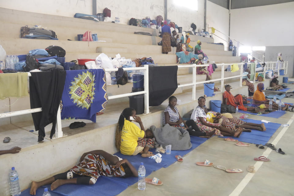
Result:
M294 2L231 10L233 38L246 46L293 46Z

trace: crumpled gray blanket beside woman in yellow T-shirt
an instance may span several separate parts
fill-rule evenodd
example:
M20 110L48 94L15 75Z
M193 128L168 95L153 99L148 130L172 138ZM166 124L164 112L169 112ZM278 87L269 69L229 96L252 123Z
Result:
M157 143L165 148L171 144L171 150L187 150L192 147L189 132L180 127L173 127L166 124L164 127L150 127Z

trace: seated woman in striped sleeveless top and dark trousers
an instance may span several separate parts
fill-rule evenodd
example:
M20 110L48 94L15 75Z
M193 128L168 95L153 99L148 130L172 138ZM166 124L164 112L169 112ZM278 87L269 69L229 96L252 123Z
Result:
M168 101L168 107L164 110L164 116L162 120L163 126L165 124L169 124L174 127L181 127L186 129L190 135L198 136L198 137L211 137L215 133L215 130L207 133L203 133L199 130L194 120L183 121L181 115L179 114L179 110L175 105L177 104L177 98L175 96L171 96ZM189 126L192 126L192 129L189 129Z

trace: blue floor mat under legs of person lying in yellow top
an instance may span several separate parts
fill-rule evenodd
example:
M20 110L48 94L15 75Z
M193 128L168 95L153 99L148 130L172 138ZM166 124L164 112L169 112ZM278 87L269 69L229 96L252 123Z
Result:
M253 119L247 119L244 120L248 123L256 123L260 124L262 123L260 120L253 120ZM272 135L276 132L276 130L281 126L279 123L264 123L266 126L266 131L258 131L258 130L252 130L252 132L243 132L239 138L231 137L231 136L224 136L219 138L234 138L239 141L252 143L252 144L262 144L265 145L269 138L272 137Z

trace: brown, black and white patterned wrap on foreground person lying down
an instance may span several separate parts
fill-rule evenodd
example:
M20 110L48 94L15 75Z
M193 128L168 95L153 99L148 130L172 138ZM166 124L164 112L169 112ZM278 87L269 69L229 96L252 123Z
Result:
M70 171L77 175L86 175L97 179L101 175L123 177L126 175L126 167L122 164L119 168L116 168L115 165L111 165L102 155L88 154L81 163L71 168Z

